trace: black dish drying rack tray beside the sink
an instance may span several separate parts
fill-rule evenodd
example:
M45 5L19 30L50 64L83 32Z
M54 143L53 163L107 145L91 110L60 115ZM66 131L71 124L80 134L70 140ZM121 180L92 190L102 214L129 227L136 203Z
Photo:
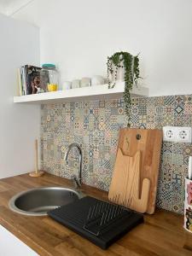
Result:
M143 223L143 214L90 196L51 210L48 215L102 249Z

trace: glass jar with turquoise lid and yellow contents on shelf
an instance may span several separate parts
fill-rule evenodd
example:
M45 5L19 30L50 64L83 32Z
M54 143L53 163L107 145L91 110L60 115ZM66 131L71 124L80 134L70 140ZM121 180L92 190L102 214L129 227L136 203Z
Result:
M40 71L41 88L44 91L55 91L59 87L59 72L54 64L43 64Z

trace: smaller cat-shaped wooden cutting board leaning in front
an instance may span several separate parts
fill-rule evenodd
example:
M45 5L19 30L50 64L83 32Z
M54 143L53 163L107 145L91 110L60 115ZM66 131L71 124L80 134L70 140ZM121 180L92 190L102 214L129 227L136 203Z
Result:
M148 208L150 180L148 178L143 179L140 198L140 166L140 151L137 151L133 156L126 156L122 154L119 148L108 198L114 203L144 213Z

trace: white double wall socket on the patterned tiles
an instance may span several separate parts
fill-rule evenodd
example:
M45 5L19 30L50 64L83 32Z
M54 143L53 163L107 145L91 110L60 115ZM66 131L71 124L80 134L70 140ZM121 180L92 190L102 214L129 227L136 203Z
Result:
M163 127L163 140L174 143L191 143L191 127L165 126Z

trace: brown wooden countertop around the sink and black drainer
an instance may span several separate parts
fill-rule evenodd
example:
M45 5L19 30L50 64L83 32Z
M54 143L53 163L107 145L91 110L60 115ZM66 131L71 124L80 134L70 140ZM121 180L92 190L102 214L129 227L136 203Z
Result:
M145 223L131 230L107 251L96 247L49 217L28 217L9 210L9 199L16 193L41 186L69 186L61 177L27 174L0 180L0 224L40 255L65 256L182 256L192 255L192 235L183 230L183 216L164 210L146 215ZM84 192L106 199L107 193L89 186Z

